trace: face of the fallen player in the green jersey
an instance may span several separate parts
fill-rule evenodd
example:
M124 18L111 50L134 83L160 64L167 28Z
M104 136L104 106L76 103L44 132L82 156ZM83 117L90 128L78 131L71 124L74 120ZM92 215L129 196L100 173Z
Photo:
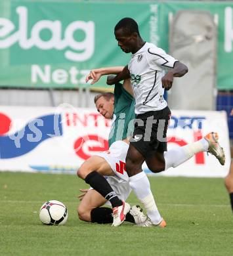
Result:
M106 119L112 119L114 116L114 98L107 100L102 96L96 100L95 106L98 112Z

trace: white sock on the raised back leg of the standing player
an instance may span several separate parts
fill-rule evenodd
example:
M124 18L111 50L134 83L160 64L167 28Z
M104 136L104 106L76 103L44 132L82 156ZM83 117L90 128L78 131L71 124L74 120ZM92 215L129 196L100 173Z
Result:
M179 148L174 148L164 152L165 170L169 169L170 167L177 167L181 163L184 163L192 158L198 152L207 151L208 148L209 143L207 140L200 139L185 146L180 146Z

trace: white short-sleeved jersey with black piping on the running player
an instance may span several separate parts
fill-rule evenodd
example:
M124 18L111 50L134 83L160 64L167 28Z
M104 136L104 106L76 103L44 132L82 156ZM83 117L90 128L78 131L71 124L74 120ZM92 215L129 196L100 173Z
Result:
M163 98L161 78L167 68L173 68L177 60L153 43L132 54L128 69L135 96L135 113L162 110L167 106Z

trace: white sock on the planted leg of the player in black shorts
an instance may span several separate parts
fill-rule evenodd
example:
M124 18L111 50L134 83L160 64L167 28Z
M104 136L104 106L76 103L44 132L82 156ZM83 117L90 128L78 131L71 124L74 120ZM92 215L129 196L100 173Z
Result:
M152 223L159 224L162 220L154 196L150 190L150 182L144 171L129 177L129 185L135 192L138 200L143 203L146 213Z

